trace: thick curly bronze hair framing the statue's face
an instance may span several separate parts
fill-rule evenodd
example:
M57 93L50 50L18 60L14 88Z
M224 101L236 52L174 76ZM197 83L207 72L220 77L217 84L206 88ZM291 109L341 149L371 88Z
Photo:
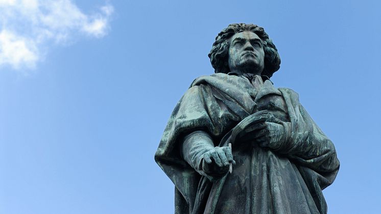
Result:
M265 67L261 75L270 78L280 67L278 50L263 28L245 23L231 24L217 35L216 41L208 54L211 65L215 68L215 73L227 74L230 72L228 65L230 38L234 34L244 31L253 32L262 40L265 52Z

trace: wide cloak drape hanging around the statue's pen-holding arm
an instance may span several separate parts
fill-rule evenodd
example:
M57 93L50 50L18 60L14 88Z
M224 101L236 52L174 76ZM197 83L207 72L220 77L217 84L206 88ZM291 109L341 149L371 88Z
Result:
M226 109L221 109L211 88L202 84L190 87L170 116L155 153L155 161L189 207L193 206L201 176L200 171L191 167L197 165L197 155L194 159L186 156L187 161L182 155L184 137L195 131L204 131L211 136L214 144L218 144L219 137L233 127L232 116Z

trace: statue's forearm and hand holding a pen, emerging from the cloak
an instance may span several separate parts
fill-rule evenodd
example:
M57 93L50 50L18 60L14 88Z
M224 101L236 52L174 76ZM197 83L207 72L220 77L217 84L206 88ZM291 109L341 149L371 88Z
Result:
M225 174L229 170L229 163L234 163L231 149L215 147L210 135L204 131L186 135L181 152L192 168L211 180Z

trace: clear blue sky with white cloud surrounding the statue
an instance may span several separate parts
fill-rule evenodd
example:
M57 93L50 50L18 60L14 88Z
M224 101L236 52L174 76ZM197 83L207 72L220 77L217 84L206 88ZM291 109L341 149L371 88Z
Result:
M229 23L265 28L341 169L328 213L378 213L378 1L0 1L0 213L173 213L154 162Z

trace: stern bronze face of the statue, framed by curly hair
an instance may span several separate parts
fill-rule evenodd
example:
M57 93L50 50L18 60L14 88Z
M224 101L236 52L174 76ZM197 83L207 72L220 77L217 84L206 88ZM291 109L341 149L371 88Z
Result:
M230 38L228 63L231 72L260 75L265 66L262 40L249 31L234 34Z

